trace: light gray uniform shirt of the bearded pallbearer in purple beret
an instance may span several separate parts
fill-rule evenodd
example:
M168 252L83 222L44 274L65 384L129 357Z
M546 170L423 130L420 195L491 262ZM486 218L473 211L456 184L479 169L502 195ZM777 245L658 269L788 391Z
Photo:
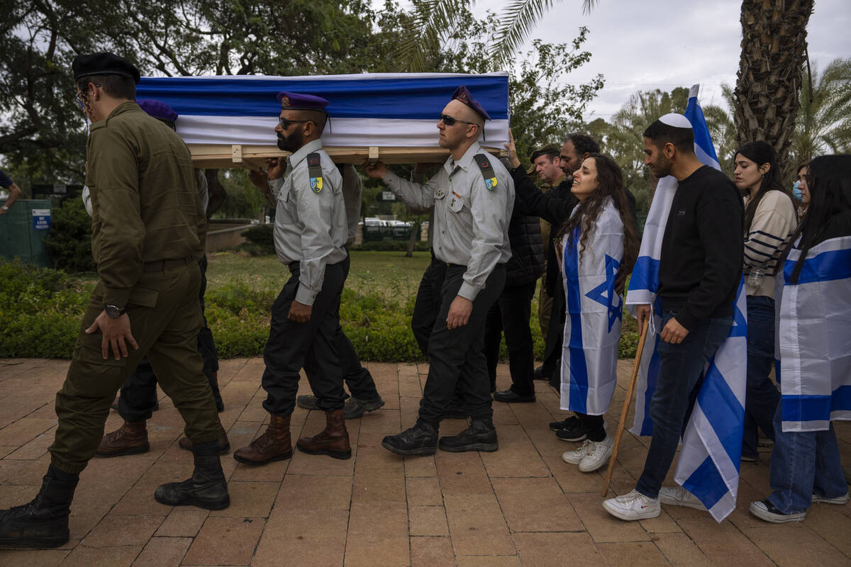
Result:
M319 154L322 189L311 188L307 156ZM287 159L281 179L271 179L269 187L277 196L275 211L275 250L283 264L299 263L299 289L295 300L312 305L322 290L326 264L346 259L348 228L343 204L340 171L322 149L321 140L302 146Z

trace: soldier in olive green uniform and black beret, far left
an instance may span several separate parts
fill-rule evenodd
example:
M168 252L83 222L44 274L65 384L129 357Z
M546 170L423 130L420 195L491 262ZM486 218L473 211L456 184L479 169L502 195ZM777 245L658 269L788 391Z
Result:
M196 349L206 219L191 156L173 130L136 105L139 71L129 61L80 55L72 69L77 103L92 122L86 184L99 281L56 394L59 426L42 488L31 502L0 512L6 546L68 541L79 473L98 447L118 388L145 354L186 421L195 456L191 478L159 486L154 497L208 509L230 503L216 406Z

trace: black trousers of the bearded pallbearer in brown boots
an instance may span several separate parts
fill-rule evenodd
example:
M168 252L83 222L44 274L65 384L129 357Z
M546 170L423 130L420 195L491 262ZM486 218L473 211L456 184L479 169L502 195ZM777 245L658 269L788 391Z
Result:
M337 328L340 326L340 293L343 291L344 263L325 266L322 291L313 300L311 318L306 323L288 319L289 308L299 289L299 263L289 264L291 277L271 306L269 340L263 351L266 390L263 407L272 415L293 413L299 391L299 371L304 368L320 410L339 410L346 401L343 373L337 354Z

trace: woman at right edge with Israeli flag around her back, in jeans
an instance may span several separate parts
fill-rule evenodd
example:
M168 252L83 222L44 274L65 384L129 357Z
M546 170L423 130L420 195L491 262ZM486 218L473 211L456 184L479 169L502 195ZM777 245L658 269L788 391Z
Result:
M777 274L777 378L767 522L848 502L832 420L851 419L851 156L809 164L810 204Z

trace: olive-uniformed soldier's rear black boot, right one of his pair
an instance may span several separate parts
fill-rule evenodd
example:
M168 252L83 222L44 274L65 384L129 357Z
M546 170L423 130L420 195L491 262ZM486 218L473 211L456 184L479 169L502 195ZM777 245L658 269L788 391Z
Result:
M231 505L225 473L221 470L218 439L192 445L195 470L190 479L157 486L154 498L167 506L197 506L222 510Z

